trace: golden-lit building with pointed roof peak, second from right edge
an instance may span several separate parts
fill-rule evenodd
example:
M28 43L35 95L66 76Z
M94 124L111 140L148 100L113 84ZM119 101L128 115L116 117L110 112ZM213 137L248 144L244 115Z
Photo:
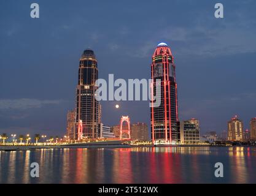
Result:
M228 140L242 141L243 140L243 123L237 116L228 121Z

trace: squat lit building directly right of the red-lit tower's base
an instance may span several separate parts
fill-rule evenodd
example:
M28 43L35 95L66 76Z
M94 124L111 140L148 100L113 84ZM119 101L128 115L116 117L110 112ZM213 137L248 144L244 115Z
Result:
M180 122L180 143L200 143L199 120L192 118Z

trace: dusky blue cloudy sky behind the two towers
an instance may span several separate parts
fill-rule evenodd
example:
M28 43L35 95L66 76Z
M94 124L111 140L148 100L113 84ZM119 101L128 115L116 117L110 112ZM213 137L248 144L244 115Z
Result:
M37 2L40 18L30 17ZM224 18L214 17L221 2ZM157 44L176 64L179 119L201 133L256 117L256 1L0 1L0 133L66 133L79 58L91 48L99 78L150 78ZM149 101L101 102L104 124L150 128Z

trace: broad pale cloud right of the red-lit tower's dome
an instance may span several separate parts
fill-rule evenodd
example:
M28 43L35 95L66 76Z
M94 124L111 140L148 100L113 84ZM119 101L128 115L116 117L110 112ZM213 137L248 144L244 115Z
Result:
M215 29L208 26L172 28L161 37L174 43L176 53L181 56L222 56L256 52L255 33L255 29L246 31L230 23Z

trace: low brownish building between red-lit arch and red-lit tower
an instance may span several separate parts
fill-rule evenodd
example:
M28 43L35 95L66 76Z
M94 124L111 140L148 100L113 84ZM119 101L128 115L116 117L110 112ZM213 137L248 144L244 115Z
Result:
M149 140L149 127L145 123L131 124L131 139L139 141Z

